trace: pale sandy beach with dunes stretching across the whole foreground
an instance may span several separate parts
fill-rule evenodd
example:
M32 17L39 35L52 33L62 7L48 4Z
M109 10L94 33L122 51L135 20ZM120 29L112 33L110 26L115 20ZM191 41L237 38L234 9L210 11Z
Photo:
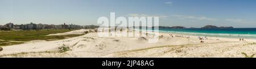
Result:
M82 34L89 31L58 33L54 35ZM139 37L98 37L97 32L56 41L30 41L24 44L2 46L0 57L239 57L256 54L256 40L238 38L204 37L160 33L163 35L156 43L148 43ZM172 35L172 36L170 36ZM48 35L52 36L52 35ZM204 37L204 40L199 40ZM147 38L147 37L145 37ZM201 42L203 41L203 42ZM61 47L69 50L60 52Z

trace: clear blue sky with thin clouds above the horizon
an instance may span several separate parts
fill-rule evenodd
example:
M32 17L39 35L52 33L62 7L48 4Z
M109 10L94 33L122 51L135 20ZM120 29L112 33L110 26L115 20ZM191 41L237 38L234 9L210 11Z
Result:
M256 28L255 0L0 0L0 24L97 25L101 16L159 16L159 25Z

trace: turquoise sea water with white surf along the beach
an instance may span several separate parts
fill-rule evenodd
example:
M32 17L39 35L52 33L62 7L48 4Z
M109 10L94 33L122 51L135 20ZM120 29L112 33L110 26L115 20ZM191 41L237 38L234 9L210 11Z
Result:
M256 28L232 28L232 29L168 29L159 28L159 32L178 33L192 36L230 37L230 38L250 38L256 40Z

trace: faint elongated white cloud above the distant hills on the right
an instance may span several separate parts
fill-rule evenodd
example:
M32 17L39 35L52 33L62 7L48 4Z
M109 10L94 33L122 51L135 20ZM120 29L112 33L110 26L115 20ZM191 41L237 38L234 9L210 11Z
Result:
M216 21L216 18L207 18L205 16L188 16L188 15L172 15L176 18L180 18L180 19L195 19L195 20L210 20L210 21Z

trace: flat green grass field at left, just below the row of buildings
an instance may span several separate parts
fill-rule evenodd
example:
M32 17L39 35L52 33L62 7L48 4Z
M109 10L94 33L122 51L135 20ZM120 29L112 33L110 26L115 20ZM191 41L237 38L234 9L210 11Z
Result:
M49 37L56 36L46 36L55 33L64 33L69 31L74 31L76 29L42 29L40 31L28 30L28 31L1 31L0 39L6 41L31 41L31 40L44 40ZM60 36L61 37L61 36ZM60 38L59 37L59 38Z

